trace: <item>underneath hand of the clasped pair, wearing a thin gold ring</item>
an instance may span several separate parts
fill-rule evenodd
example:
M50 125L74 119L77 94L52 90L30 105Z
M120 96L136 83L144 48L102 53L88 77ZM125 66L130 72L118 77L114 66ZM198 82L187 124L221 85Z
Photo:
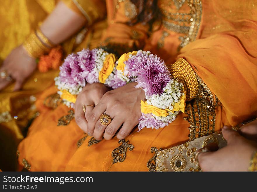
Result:
M86 112L84 113L83 105L97 105L102 96L109 90L110 89L101 83L86 84L77 96L74 106L75 121L84 132L87 132L87 121L85 116L86 114L91 113L93 107L86 107Z

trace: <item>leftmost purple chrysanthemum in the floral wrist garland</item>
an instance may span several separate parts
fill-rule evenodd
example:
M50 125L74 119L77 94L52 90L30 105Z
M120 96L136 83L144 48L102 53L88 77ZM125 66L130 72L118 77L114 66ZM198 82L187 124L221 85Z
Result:
M64 63L60 66L60 81L72 86L79 84L84 87L86 81L85 78L82 77L82 72L83 70L78 65L78 55L72 53L65 58Z

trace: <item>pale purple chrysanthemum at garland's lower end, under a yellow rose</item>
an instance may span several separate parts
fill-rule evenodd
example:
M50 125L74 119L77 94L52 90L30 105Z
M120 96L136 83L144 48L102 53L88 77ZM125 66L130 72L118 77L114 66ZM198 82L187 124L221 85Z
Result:
M169 123L164 123L160 120L155 119L152 116L152 113L148 113L148 114L142 113L142 116L139 119L138 131L140 131L144 127L152 128L152 129L159 129L159 128L167 126L168 124Z

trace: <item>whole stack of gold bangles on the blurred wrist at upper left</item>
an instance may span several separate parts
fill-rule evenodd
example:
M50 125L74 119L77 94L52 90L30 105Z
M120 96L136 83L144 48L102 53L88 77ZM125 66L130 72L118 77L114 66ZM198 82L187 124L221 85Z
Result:
M41 55L48 53L54 45L38 28L27 37L23 46L30 57L39 58Z

